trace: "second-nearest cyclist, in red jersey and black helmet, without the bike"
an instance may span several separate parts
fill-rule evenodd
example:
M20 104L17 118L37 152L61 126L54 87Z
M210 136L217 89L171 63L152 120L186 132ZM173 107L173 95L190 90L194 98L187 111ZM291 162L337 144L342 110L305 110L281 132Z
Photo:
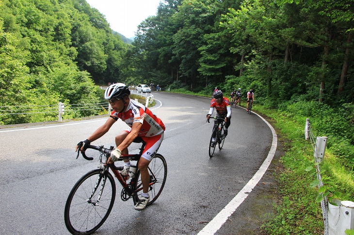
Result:
M214 93L214 98L210 102L210 110L207 114L207 119L210 118L210 115L214 112L214 108L216 108L215 116L218 118L225 118L225 130L224 134L227 135L227 128L230 126L231 122L231 104L229 100L224 97L223 92L221 90L217 90ZM217 127L217 120L214 121L214 128Z

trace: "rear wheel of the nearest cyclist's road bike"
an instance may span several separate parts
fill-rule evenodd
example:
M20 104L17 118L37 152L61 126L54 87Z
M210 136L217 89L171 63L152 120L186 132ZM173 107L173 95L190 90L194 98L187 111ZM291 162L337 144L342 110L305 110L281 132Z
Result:
M150 187L149 187L149 196L150 201L146 204L146 206L151 205L156 201L156 199L160 196L163 187L165 186L166 178L167 178L167 164L166 160L161 154L155 154L151 162L148 166L148 171L150 174ZM134 185L133 190L138 190L139 188L143 188L143 183L141 181L140 171L136 172L136 183ZM138 192L138 195L141 195L143 190ZM134 204L137 203L134 201Z

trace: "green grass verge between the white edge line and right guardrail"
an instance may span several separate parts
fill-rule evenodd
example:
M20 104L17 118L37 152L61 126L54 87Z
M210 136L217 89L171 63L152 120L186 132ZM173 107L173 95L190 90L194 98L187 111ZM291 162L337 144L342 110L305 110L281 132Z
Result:
M292 118L261 105L255 105L254 110L275 120L274 126L285 139L286 148L280 160L284 170L277 176L279 200L274 205L274 216L268 217L262 230L270 235L324 234L321 205L315 202L318 188L310 186L317 176L313 147L309 140L305 140L306 118ZM307 172L306 168L311 166L313 169ZM336 184L340 200L353 201L353 172L340 163L331 149L326 149L320 171L322 177L329 177Z

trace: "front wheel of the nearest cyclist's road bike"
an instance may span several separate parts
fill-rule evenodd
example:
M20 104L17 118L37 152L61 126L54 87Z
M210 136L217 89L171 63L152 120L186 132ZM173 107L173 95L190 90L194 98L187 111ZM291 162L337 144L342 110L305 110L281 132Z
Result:
M82 176L66 200L64 220L71 234L94 233L108 218L115 199L115 183L109 172L93 170Z

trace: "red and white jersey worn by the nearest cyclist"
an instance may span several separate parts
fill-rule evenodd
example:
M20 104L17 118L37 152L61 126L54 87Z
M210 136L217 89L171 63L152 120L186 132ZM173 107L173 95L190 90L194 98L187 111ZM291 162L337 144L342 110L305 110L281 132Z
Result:
M117 113L113 110L111 118L114 118L114 120L118 120L118 118L122 119L130 128L133 126L134 122L142 123L143 125L138 132L139 137L160 135L166 129L160 118L156 117L156 115L143 104L131 99L124 112ZM128 132L130 132L130 130Z

